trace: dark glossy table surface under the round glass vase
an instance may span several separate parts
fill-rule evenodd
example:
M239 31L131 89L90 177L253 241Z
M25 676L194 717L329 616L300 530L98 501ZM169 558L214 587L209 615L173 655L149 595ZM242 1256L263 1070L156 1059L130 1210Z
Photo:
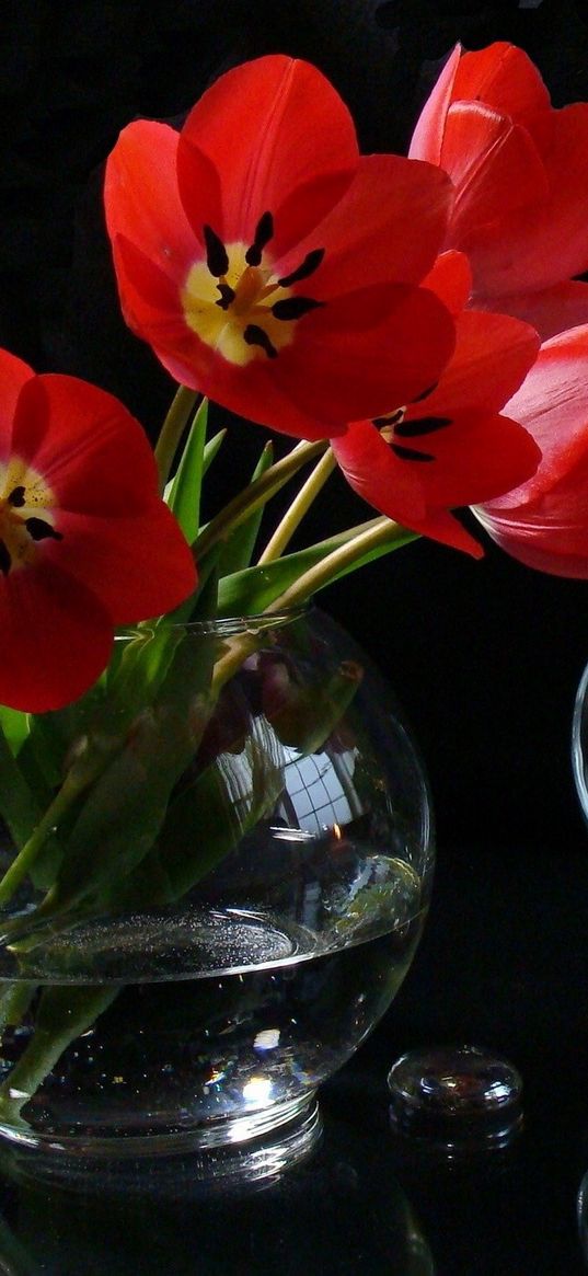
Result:
M323 1134L265 1178L36 1183L1 1166L5 1276L580 1276L588 1236L588 845L441 846L421 951L372 1037L323 1091ZM524 1122L491 1152L399 1139L386 1073L429 1042L515 1063ZM580 1192L582 1188L582 1192ZM582 1219L578 1225L578 1203Z

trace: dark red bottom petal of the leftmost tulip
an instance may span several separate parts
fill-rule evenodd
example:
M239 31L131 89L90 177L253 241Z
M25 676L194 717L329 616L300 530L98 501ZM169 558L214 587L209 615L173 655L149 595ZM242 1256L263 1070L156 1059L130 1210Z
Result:
M96 681L112 623L83 581L43 560L0 579L0 703L45 713Z

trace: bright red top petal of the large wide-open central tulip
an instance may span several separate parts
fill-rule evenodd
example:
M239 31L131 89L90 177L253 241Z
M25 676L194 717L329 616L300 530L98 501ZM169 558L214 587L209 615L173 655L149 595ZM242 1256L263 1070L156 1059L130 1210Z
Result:
M213 165L222 189L224 241L251 242L269 211L281 236L279 253L301 240L351 180L358 151L353 121L335 89L309 63L269 55L227 71L209 88L181 130L177 157L180 198L194 228L202 198L194 148ZM325 182L323 198L288 202L300 186Z

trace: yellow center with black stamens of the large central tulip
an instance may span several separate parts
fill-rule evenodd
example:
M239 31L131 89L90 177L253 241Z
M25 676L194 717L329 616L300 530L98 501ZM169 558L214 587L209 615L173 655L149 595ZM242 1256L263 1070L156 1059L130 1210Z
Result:
M264 213L253 244L224 245L204 227L207 256L195 262L181 288L189 328L218 355L245 367L254 359L277 359L295 338L296 324L324 302L293 292L292 285L320 265L323 249L309 253L290 276L276 278L265 249L273 219Z

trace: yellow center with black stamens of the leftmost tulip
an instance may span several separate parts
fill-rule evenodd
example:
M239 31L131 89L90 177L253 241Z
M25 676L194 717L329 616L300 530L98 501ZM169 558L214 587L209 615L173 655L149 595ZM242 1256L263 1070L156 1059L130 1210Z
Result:
M54 527L55 495L42 475L20 457L0 463L0 572L34 563L40 541L61 540Z

